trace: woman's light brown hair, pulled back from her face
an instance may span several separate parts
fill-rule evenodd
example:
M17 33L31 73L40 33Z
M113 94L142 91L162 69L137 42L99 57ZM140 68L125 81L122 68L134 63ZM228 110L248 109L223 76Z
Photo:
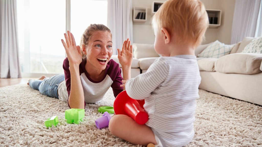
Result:
M86 54L84 54L84 52L83 52L83 47L86 47L88 45L90 38L92 37L94 32L97 32L97 31L102 31L102 32L108 31L111 34L110 29L108 29L108 27L106 27L103 24L90 24L90 26L88 26L85 29L85 31L84 31L84 33L81 37L80 45L79 45L80 48L81 48L81 54L82 54L83 60L86 59ZM112 34L111 34L111 38L112 38Z

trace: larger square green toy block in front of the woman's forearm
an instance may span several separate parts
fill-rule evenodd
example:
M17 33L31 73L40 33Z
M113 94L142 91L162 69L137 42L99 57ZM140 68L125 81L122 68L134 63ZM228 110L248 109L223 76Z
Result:
M67 123L78 124L85 117L85 109L68 109L65 110L65 119Z

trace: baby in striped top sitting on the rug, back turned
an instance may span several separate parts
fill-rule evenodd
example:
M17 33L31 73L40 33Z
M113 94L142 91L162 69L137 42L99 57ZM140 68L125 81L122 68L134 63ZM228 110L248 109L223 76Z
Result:
M152 27L161 57L122 85L131 98L145 99L149 120L139 125L127 115L115 115L109 130L136 145L184 146L194 136L201 81L194 51L203 40L208 15L200 0L168 0L153 16Z

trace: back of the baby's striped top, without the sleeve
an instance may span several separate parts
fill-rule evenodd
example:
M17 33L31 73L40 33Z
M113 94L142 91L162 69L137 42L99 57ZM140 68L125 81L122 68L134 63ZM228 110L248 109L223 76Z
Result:
M152 70L168 70L168 74L145 98L144 108L149 114L146 125L159 133L166 145L183 146L194 136L194 114L201 81L197 60L192 55L160 57L159 60L165 64Z

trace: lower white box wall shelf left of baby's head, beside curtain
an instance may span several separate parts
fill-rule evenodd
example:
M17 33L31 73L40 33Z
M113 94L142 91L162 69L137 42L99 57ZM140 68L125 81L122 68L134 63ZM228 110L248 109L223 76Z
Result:
M133 22L146 22L147 8L134 7L133 9Z

